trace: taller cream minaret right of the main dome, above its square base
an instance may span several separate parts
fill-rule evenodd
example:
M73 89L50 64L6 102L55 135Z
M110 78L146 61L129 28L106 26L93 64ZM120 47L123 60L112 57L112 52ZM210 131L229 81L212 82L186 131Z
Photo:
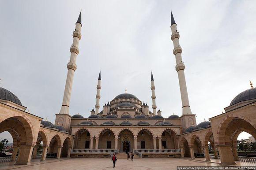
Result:
M174 46L173 54L175 55L176 64L177 64L175 68L176 68L176 71L178 72L180 89L181 89L182 115L191 115L192 112L189 106L188 91L187 91L187 85L186 85L185 74L184 74L185 65L182 62L182 58L181 58L182 49L179 43L180 34L177 31L177 24L174 21L173 13L171 13L171 30L172 30L171 39L173 41L173 46Z

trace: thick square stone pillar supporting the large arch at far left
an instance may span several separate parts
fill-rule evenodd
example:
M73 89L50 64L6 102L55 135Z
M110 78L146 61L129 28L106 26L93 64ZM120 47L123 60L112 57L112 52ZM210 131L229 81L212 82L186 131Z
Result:
M30 163L32 151L33 151L33 146L20 145L18 159L15 164L16 165L27 165L28 163Z

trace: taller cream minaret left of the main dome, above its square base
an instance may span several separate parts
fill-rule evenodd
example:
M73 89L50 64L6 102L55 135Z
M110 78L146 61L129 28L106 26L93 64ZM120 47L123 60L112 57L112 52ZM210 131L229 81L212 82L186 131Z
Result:
M82 12L82 11L81 11ZM70 96L71 96L71 91L72 91L72 84L73 84L73 78L74 78L74 73L76 70L76 56L79 53L79 40L81 39L81 12L79 14L78 20L75 23L75 30L73 31L73 44L70 48L70 60L68 62L68 75L67 75L67 80L66 80L66 85L65 85L65 91L64 91L64 97L63 97L63 102L62 106L60 109L60 114L69 114L69 102L70 102Z

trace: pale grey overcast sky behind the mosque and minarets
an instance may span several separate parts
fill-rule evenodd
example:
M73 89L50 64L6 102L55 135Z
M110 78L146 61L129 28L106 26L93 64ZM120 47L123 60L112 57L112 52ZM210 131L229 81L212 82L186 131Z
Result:
M152 70L162 115L181 115L171 10L197 124L224 112L238 93L249 89L249 80L256 85L254 0L1 0L0 86L18 96L32 114L54 123L60 111L81 9L71 115L90 115L99 70L100 111L125 88L152 111Z

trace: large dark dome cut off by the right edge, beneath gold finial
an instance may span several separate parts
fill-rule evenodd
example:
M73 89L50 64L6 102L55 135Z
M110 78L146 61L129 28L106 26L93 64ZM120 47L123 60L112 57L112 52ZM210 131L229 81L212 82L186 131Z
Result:
M256 99L256 88L245 90L238 94L230 103L230 106L241 101Z

